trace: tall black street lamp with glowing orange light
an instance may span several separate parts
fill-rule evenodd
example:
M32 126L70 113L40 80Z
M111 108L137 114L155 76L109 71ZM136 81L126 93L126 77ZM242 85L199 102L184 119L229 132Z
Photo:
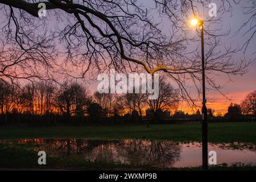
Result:
M202 82L203 82L203 107L202 107L202 154L203 154L203 169L208 169L208 142L207 142L207 107L205 99L205 72L204 72L204 22L199 19L192 19L191 25L200 26L201 30L201 55L202 55Z

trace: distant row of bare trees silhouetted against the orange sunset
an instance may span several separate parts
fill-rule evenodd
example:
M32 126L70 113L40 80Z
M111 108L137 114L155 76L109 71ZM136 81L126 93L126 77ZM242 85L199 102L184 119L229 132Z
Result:
M124 116L127 122L142 122L143 109L148 108L152 122L157 122L161 113L176 109L179 104L177 90L163 78L159 80L158 99L147 97L142 93L90 94L88 87L75 81L39 81L22 86L1 80L0 121L2 125L109 123Z

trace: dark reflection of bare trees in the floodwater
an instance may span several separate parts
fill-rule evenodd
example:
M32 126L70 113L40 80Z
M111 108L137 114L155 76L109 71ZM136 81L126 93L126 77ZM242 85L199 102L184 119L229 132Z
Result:
M42 144L34 151L46 151L48 156L77 155L90 161L158 167L171 167L181 150L174 142L149 140L27 139L20 143Z

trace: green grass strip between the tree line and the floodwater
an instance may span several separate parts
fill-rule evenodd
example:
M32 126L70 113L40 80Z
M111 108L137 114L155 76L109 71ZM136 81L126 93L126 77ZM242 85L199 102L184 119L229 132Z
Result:
M213 143L246 142L256 144L256 123L209 123L208 140ZM201 141L200 124L0 127L0 139L84 138L157 139L175 142Z

